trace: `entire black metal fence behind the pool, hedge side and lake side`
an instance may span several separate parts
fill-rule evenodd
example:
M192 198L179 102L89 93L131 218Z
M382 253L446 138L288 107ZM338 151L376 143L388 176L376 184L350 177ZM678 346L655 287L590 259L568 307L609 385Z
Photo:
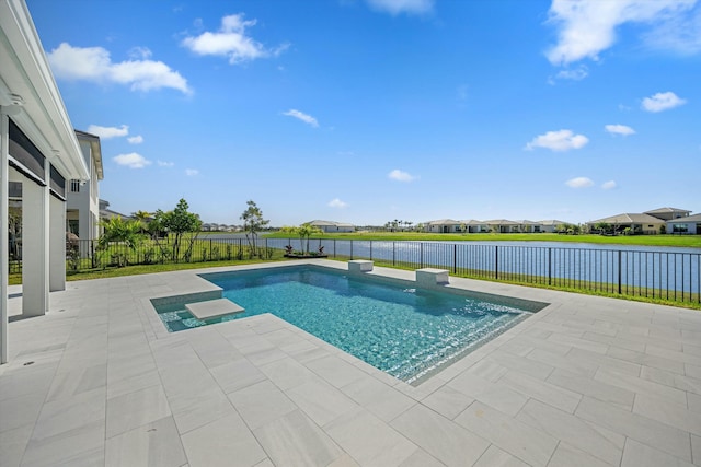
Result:
M120 244L100 249L94 241L78 241L67 248L67 270L274 259L280 258L288 245L301 249L298 238L258 238L252 246L245 238L208 237L185 241L180 248L161 240L134 249ZM378 266L436 267L474 279L701 303L701 252L333 238L311 238L310 249L336 259L370 259ZM10 261L10 272L21 272L21 260Z

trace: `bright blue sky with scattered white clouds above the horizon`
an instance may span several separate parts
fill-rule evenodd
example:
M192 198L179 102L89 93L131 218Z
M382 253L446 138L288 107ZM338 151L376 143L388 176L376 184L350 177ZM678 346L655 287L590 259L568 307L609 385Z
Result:
M701 211L696 0L27 0L101 197L272 225Z

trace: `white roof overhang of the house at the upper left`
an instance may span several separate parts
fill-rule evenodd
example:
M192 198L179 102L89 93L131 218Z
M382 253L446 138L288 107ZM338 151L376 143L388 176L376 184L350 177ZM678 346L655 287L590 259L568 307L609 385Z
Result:
M23 0L0 1L0 105L65 177L90 179L78 138ZM19 97L18 97L19 96ZM22 105L23 102L23 105Z

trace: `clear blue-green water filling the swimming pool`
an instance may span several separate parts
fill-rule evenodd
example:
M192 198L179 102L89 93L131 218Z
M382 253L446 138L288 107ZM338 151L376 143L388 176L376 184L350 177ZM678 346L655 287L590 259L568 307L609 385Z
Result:
M203 322L183 305L160 307L169 330L272 313L405 382L414 382L529 316L529 307L470 295L284 267L204 275L245 313ZM491 295L490 295L491 296ZM499 297L494 297L498 300ZM525 305L526 304L526 305ZM529 311L527 311L529 310Z

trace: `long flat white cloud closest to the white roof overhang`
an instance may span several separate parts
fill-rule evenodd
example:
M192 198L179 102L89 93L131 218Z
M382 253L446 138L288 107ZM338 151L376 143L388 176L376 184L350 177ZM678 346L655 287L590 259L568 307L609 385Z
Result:
M133 91L171 87L192 93L187 80L162 61L131 59L114 63L102 47L72 47L61 43L48 54L48 61L54 74L65 80L113 82L129 85Z

